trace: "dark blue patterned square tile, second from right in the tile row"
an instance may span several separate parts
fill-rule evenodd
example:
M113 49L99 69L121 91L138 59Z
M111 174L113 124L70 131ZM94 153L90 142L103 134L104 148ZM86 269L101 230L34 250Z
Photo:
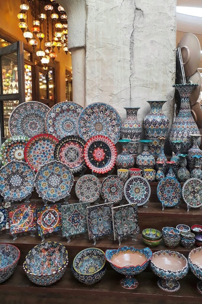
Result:
M112 203L87 207L89 239L101 237L113 232Z

